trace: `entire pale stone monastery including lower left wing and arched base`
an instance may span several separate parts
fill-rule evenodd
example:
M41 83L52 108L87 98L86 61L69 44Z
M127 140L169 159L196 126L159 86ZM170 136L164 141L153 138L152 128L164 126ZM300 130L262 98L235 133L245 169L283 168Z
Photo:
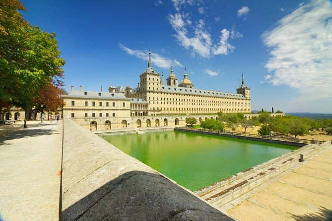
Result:
M242 84L237 93L194 88L185 69L178 84L173 66L166 79L148 67L140 74L136 88L109 87L109 92L73 90L64 96L64 116L90 130L185 125L186 118L195 117L200 123L217 118L217 112L251 113L250 88Z

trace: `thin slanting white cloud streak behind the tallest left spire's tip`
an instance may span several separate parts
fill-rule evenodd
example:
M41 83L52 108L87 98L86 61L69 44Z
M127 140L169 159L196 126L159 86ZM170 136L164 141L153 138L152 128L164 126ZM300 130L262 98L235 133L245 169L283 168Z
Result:
M119 44L119 46L122 50L127 52L127 54L129 54L129 55L133 55L133 56L141 58L145 61L149 60L148 51L132 50L122 44ZM177 59L172 60L172 59L163 57L162 55L159 55L157 53L152 53L152 52L151 52L151 61L152 61L152 66L156 65L157 67L161 67L161 68L170 68L172 64L173 64L173 66L180 66L180 67L183 66Z

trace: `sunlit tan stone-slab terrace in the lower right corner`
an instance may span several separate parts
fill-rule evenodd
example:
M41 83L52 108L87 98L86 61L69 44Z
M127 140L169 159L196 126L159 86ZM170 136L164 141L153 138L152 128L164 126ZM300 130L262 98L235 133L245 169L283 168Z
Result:
M239 221L331 221L332 146L220 210Z

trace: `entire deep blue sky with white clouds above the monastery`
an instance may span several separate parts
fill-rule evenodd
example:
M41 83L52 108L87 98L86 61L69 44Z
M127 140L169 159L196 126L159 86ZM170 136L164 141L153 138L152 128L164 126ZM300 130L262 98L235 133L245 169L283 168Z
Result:
M236 92L252 110L332 113L330 0L22 0L31 25L57 34L66 91L137 86L151 49L195 88Z

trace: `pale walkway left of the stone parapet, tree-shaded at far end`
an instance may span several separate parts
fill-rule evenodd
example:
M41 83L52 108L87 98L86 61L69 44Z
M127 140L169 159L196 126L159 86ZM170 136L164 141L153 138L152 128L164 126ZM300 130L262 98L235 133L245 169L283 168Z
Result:
M59 220L62 120L8 128L9 133L5 127L0 131L0 221Z

